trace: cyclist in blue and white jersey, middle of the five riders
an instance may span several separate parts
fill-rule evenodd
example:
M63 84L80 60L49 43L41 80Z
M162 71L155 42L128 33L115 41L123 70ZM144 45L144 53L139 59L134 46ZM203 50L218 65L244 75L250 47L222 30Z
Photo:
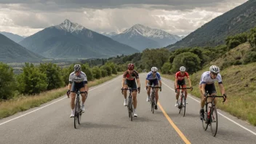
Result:
M156 67L152 67L151 71L148 73L148 76L145 78L145 89L147 89L147 93L148 93L148 97L147 97L147 101L149 101L149 95L151 93L151 89L148 89L148 86L151 86L152 84L154 85L154 87L160 87L156 88L156 105L155 105L155 109L157 110L157 102L159 100L159 89L161 92L161 76L159 74L159 72L157 72L158 69Z

